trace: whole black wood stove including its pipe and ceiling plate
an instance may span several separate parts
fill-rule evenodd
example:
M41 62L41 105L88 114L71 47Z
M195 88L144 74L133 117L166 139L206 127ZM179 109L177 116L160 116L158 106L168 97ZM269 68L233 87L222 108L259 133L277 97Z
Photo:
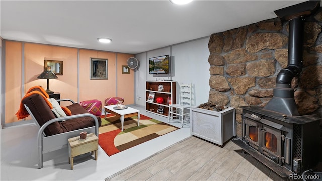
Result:
M307 1L274 11L289 21L288 65L276 77L273 98L262 107L243 108L241 148L282 177L314 168L319 160L321 118L299 115L292 79L303 67L304 20L320 7Z

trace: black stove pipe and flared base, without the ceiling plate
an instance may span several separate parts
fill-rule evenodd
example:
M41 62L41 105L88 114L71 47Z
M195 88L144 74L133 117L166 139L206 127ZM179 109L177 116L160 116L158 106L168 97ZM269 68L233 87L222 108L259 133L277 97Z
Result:
M303 66L303 38L304 19L294 18L289 21L288 60L287 67L282 69L276 77L273 98L264 109L276 111L289 116L298 116L294 100L294 89L291 88L292 79L298 76Z

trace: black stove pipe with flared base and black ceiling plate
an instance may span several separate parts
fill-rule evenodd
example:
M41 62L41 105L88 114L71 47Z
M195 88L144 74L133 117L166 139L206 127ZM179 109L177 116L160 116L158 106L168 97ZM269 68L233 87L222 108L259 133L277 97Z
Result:
M303 67L304 18L315 12L319 6L320 1L307 1L274 11L282 21L289 21L288 65L278 73L273 98L264 109L299 116L291 82L301 73Z

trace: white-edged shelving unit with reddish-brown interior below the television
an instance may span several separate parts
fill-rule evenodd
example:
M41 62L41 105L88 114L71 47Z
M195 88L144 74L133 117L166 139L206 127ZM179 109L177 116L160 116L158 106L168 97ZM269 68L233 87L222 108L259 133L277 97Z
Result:
M159 85L163 86L163 91L158 91ZM168 117L169 103L167 103L168 97L172 104L176 104L176 81L146 81L146 97L145 97L145 110L154 114L158 114L164 117ZM155 93L153 102L147 101L149 94ZM163 98L163 103L157 103L157 98ZM163 106L163 113L158 113L159 106Z

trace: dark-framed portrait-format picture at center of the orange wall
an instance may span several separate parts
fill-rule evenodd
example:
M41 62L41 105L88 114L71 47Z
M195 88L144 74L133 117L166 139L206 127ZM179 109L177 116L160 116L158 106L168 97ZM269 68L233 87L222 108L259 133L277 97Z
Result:
M108 59L91 58L90 80L108 79Z

